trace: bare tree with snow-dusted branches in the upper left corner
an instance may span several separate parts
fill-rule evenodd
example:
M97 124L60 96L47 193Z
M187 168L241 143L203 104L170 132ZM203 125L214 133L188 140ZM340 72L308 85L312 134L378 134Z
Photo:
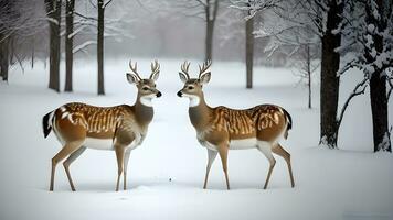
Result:
M8 79L10 66L19 64L23 72L26 57L31 56L32 62L36 55L46 57L46 53L40 50L42 41L34 42L35 37L45 38L43 33L47 29L47 16L43 6L42 0L0 1L0 75L3 80ZM35 50L34 44L40 48Z

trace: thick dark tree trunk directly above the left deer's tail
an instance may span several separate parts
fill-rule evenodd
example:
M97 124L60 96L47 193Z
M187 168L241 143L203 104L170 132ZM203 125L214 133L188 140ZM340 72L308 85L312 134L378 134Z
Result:
M50 79L49 88L60 91L60 22L61 0L45 0L50 23Z

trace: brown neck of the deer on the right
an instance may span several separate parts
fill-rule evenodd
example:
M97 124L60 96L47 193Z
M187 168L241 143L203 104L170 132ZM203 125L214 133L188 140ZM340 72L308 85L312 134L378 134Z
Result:
M193 100L190 100L191 102ZM198 130L202 131L206 128L210 120L211 108L204 101L203 94L199 97L199 102L197 106L190 106L189 116L192 125Z

